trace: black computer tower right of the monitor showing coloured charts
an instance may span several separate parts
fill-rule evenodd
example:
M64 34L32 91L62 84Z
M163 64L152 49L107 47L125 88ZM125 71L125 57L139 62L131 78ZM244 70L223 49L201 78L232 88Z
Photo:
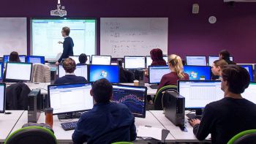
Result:
M185 98L172 90L166 91L164 96L165 117L176 126L184 126Z

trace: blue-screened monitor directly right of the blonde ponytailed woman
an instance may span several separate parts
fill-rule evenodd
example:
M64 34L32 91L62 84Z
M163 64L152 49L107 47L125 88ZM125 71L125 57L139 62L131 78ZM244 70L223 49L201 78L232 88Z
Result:
M211 67L184 66L184 72L189 75L189 80L211 80Z

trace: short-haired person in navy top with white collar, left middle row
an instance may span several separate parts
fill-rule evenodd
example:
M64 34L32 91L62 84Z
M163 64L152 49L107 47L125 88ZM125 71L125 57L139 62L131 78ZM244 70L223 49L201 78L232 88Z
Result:
M66 58L63 62L63 68L65 69L66 75L57 78L54 84L87 82L85 77L76 76L74 74L75 66L75 61L72 58Z

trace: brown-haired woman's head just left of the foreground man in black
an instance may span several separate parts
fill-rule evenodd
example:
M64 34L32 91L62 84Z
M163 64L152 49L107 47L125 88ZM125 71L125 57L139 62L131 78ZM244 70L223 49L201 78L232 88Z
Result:
M212 64L212 67L211 67L211 72L213 74L213 77L212 77L213 80L219 79L219 77L222 74L222 69L225 65L227 65L227 62L224 59L214 61L214 63Z

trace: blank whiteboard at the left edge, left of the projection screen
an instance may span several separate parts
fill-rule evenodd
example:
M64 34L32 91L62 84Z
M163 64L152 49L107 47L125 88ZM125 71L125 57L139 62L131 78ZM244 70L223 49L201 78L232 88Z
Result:
M0 57L17 51L27 54L26 18L0 18Z

